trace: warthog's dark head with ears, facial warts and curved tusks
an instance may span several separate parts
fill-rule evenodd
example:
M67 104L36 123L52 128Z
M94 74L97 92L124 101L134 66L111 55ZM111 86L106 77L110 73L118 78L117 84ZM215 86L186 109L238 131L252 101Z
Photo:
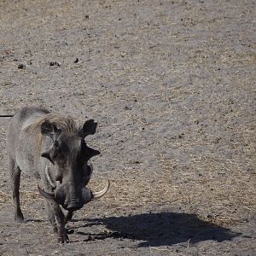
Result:
M45 198L57 202L68 211L79 210L85 203L108 191L109 182L102 191L96 193L85 187L92 172L88 160L100 152L89 148L84 137L95 131L96 123L92 119L86 121L83 128L73 131L62 131L47 119L41 124L41 134L49 137L49 147L41 156L52 164L46 166L45 170L52 192L39 187L38 190Z

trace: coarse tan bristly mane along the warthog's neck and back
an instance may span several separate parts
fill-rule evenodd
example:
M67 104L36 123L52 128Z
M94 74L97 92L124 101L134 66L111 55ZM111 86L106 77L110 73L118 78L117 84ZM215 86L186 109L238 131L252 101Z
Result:
M75 121L71 116L62 116L55 113L47 113L44 116L37 119L31 125L28 125L25 129L27 132L36 133L37 136L37 151L41 150L42 145L42 134L41 134L41 124L48 120L51 124L55 125L61 131L76 132L78 131Z

